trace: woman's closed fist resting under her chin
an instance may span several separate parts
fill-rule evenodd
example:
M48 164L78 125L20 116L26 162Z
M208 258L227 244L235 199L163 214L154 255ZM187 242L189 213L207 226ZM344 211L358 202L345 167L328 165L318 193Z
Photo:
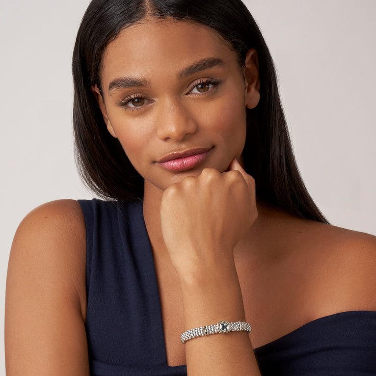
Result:
M256 218L255 181L236 160L226 172L205 168L166 188L162 235L178 275L234 264L234 247Z

